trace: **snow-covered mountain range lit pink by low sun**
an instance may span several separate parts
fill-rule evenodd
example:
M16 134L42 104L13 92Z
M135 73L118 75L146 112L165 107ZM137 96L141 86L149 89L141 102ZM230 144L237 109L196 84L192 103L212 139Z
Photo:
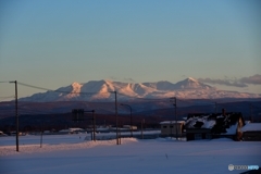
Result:
M85 84L73 83L53 91L35 94L20 101L112 101L117 92L119 100L140 98L217 99L217 98L260 98L256 94L219 90L191 77L172 84L166 80L157 83L122 83L111 80L90 80Z

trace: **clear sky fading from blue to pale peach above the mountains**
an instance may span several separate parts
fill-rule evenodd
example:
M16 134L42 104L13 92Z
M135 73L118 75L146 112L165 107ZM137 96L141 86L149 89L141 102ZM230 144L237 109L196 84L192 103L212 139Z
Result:
M186 77L261 94L261 1L0 1L0 82L57 89ZM0 101L12 95L0 83Z

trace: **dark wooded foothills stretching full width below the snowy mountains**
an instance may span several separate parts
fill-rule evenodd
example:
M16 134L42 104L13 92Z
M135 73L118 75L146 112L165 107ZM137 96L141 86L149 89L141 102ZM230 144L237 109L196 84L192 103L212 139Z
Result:
M64 102L62 102L64 104ZM61 103L59 103L61 104ZM65 104L71 104L65 102L65 107L62 104L63 108L66 108ZM96 104L103 104L103 103L88 103L92 105L88 105L88 108L95 108ZM140 105L139 103L138 105ZM150 103L151 104L151 103ZM0 119L0 130L3 132L11 132L15 130L16 122L14 115L14 107L7 104L2 104L4 107L0 108L0 113L3 115ZM26 104L27 105L27 104ZM41 103L37 103L36 105L41 105ZM20 114L20 130L21 132L40 132L40 130L60 130L70 127L80 127L80 128L88 128L92 127L92 114L85 113L84 119L82 121L75 121L73 119L72 112L55 113L55 114L44 114L52 111L52 107L55 104L51 104L51 108L44 104L45 110L38 110L37 108L22 109L20 108L20 112L28 112L32 111L32 114ZM78 105L78 103L77 103ZM108 107L108 104L104 103ZM103 105L103 107L104 107ZM189 113L221 113L222 109L225 109L227 112L241 112L244 119L246 121L253 121L253 122L261 122L261 101L257 102L227 102L227 103L214 103L209 105L189 105L189 107L177 107L176 115L177 120L184 120ZM42 107L42 105L41 105ZM136 105L137 107L137 105ZM142 105L144 107L144 105ZM75 107L75 108L84 108L83 105ZM105 108L105 107L104 107ZM102 113L97 111L96 115L96 125L97 126L116 126L116 117L114 114L113 105L109 105L111 109L110 112ZM134 107L135 108L135 107ZM128 110L123 110L121 108L121 112L119 112L119 127L123 125L130 125L130 114ZM11 112L12 111L12 112ZM45 112L44 112L45 111ZM124 114L122 113L123 111ZM38 113L34 113L38 112ZM9 113L10 116L5 116ZM141 125L141 121L145 122L144 126L146 128L159 128L160 122L162 121L175 121L175 108L162 108L156 110L145 110L139 112L133 112L133 125L137 126L138 128Z

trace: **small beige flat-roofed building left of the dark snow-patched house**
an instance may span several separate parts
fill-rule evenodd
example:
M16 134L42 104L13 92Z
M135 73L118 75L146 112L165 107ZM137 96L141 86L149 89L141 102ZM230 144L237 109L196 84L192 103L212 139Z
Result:
M161 122L161 136L175 136L177 133L177 136L183 136L184 130L184 124L185 121L164 121Z

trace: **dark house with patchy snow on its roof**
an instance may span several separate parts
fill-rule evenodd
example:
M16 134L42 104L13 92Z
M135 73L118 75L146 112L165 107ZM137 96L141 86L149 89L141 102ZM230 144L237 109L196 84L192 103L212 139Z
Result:
M208 114L188 114L185 123L187 140L232 138L241 139L241 127L245 125L244 117L239 112Z

